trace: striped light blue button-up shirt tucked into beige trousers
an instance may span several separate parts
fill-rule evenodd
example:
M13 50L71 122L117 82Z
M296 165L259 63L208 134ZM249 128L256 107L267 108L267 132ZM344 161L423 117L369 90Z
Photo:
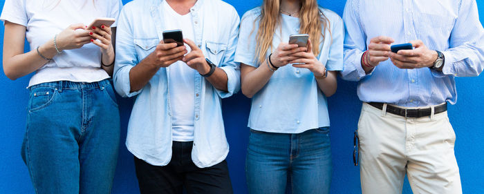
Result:
M484 29L475 0L348 0L343 79L360 81L361 101L422 107L457 100L454 77L477 76L484 68ZM443 72L404 70L383 61L365 75L363 52L370 40L392 37L394 44L420 39L445 55Z

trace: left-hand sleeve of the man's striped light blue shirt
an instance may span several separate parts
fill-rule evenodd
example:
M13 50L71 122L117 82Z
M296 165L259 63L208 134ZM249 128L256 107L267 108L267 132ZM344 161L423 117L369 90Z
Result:
M344 37L344 68L341 75L343 79L348 81L359 81L367 76L361 64L363 52L366 50L366 34L360 23L358 2L358 0L346 1L343 14L346 33Z

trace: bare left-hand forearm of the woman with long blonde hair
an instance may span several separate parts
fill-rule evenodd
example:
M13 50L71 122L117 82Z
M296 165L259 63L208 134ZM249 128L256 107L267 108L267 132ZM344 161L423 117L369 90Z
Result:
M246 97L253 97L268 83L270 77L272 77L272 70L266 65L266 61L263 61L258 68L248 72L242 79L241 90ZM252 68L247 65L244 68Z

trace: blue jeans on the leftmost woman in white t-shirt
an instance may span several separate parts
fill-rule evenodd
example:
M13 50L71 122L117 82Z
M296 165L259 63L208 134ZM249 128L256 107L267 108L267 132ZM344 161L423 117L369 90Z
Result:
M111 193L120 114L110 82L30 87L21 155L35 193Z

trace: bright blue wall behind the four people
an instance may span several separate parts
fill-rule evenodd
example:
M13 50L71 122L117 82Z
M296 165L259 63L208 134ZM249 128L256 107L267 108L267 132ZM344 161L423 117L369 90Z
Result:
M239 14L255 6L261 0L225 0ZM425 1L425 0L422 0ZM481 22L484 21L484 1L478 1ZM123 0L127 3L129 0ZM345 1L319 0L319 5L342 15ZM3 8L4 0L0 1ZM0 25L3 44L3 25ZM2 48L0 48L2 49ZM28 50L28 48L26 48ZM1 52L0 52L1 53ZM0 73L0 193L34 193L28 171L20 156L21 142L26 122L28 80L30 76L11 81ZM484 77L461 77L456 79L458 103L449 107L449 117L456 131L456 157L464 193L484 193ZM133 166L133 156L124 146L126 128L133 101L121 99L120 114L122 139L116 170L113 193L139 193L138 181ZM339 80L336 95L329 98L331 117L331 141L333 151L333 183L331 193L361 193L360 171L353 166L353 131L357 127L361 102L356 96L356 84ZM223 100L223 113L230 144L227 157L230 177L236 194L247 193L245 185L245 153L249 130L247 119L250 99L241 93ZM409 184L404 193L411 193Z

